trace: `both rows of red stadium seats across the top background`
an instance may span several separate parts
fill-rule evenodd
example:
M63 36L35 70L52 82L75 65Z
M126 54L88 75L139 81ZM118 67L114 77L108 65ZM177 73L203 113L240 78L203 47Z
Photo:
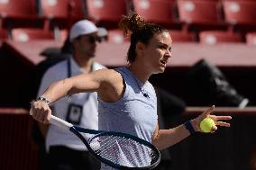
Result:
M129 10L172 29L175 41L256 41L256 2L252 0L3 0L0 40L65 40L70 25L82 18L116 29ZM122 33L110 30L109 41L123 42Z

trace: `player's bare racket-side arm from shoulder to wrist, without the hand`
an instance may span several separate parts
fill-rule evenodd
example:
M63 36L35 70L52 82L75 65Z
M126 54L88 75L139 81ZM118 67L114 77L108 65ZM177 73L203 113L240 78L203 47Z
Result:
M59 98L69 95L85 92L97 92L100 96L113 98L113 91L119 89L118 82L122 82L122 78L118 78L119 74L111 69L101 69L90 74L82 74L72 76L63 80L59 80L51 84L42 94L48 98L50 102L55 102ZM121 77L121 76L120 76ZM112 91L112 93L110 93ZM106 98L106 100L109 100Z

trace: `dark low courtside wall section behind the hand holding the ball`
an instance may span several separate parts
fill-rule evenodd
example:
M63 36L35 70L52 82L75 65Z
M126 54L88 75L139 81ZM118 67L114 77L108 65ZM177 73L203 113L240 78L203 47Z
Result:
M206 108L188 107L181 117L171 120L174 126L196 117ZM214 134L196 133L169 148L174 170L255 170L256 108L215 108L216 115L231 115L230 128L219 128ZM168 123L166 123L168 125ZM254 150L254 151L253 151Z

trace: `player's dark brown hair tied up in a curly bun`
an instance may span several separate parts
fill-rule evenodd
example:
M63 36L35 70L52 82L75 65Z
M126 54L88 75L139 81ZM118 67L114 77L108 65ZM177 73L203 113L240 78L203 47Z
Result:
M148 44L156 33L167 31L160 25L152 22L145 22L137 13L131 13L129 16L123 16L119 22L119 27L123 30L125 36L131 35L131 44L127 54L127 61L132 63L136 58L136 44L140 41Z

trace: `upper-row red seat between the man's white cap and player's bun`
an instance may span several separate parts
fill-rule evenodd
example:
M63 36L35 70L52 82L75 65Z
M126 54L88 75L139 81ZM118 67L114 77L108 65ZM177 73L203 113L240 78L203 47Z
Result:
M118 28L122 15L128 13L126 0L87 0L87 16L98 26L107 29Z

